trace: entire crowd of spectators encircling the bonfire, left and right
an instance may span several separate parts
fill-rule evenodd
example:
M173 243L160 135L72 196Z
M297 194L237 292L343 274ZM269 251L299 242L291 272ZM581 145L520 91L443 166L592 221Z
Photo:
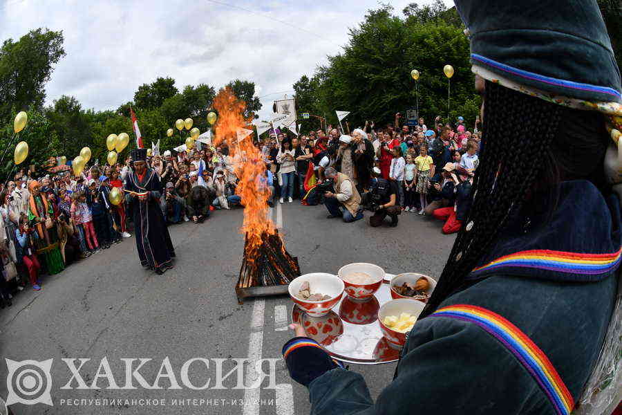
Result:
M468 210L479 133L468 131L461 117L455 129L440 124L440 118L433 129L423 118L415 126L401 125L400 119L398 113L385 128L368 122L350 134L332 126L328 135L321 129L298 137L272 131L258 143L266 163L261 183L271 194L267 203L294 198L305 205L322 203L329 218L348 223L362 219L368 209L373 211L372 226L382 225L386 216L390 225L397 225L402 212L418 212L442 219L443 232L457 232ZM167 150L146 161L158 178L153 203L167 225L202 223L212 211L243 202L236 194L238 177L226 144ZM114 166L92 165L79 176L68 168L53 174L21 170L1 187L0 306L10 305L12 293L27 283L41 290L41 273L60 273L131 237L134 205L127 196L115 205L109 196L134 171L128 157ZM168 269L151 268L160 273Z

